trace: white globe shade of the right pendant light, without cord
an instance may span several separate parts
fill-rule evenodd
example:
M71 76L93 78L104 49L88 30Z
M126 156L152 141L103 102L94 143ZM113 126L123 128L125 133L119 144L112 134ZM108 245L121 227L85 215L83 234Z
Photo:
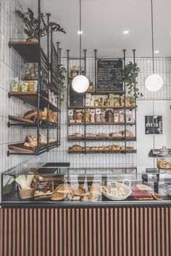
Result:
M163 86L163 78L161 75L153 74L146 78L145 86L149 91L159 91Z

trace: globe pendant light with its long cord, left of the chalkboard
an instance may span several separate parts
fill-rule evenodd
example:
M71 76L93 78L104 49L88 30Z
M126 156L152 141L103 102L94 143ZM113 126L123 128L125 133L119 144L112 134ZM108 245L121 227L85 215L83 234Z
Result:
M75 78L72 80L72 88L74 91L78 93L84 93L87 91L89 87L89 81L88 78L86 78L85 75L81 75L81 36L82 36L82 30L81 30L81 0L80 0L80 75L76 75Z

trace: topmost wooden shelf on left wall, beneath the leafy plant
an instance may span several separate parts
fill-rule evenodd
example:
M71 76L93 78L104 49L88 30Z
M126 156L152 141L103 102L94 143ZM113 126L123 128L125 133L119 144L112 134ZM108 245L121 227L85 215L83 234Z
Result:
M20 57L25 62L38 62L39 59L39 44L32 41L10 41L9 47L13 48L20 54Z

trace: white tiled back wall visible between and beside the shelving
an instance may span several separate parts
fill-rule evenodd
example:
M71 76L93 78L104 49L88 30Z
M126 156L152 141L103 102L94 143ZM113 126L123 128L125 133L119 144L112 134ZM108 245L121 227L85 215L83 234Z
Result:
M143 93L143 99L171 99L171 91L170 91L170 58L157 58L155 59L155 66L157 67L157 73L162 75L164 78L164 86L161 91L157 93L151 93L146 90L144 83L146 76L149 75L152 72L152 59L151 58L136 58L135 62L138 63L138 67L140 67L140 74L138 76L138 88L140 88L141 92ZM128 62L132 61L133 58L127 58L126 64ZM67 59L62 59L62 65L67 65ZM70 60L70 68L73 65L79 65L79 60ZM95 65L94 65L94 58L88 58L86 60L86 76L88 79L93 80L93 83L95 81ZM83 145L83 142L79 141L67 141L67 99L65 99L64 104L62 105L62 133L61 133L61 146L59 149L54 149L53 152L49 152L48 154L48 161L63 161L63 162L70 162L70 165L75 168L81 168L81 167L88 167L88 168L111 168L111 167L133 167L136 165L137 157L136 154L67 154L67 149L69 146L73 144L80 144ZM111 125L112 126L112 125ZM83 132L83 127L75 125L70 126L70 133ZM106 131L119 131L119 129L122 129L121 127L112 126L110 125L104 125L104 126L88 126L87 131L95 131L96 132L103 132ZM133 127L129 126L130 131L133 131ZM93 141L90 142L93 144ZM104 144L110 144L110 142L107 141L94 141L94 144L96 145L104 145ZM113 144L119 144L118 142L113 142ZM136 148L136 142L128 142L128 146L134 146Z

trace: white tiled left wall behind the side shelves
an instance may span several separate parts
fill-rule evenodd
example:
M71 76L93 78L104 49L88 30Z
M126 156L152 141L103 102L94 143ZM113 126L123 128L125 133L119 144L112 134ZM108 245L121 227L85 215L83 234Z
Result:
M0 173L22 162L41 159L17 155L7 157L8 144L23 141L28 133L35 133L35 129L7 127L8 115L22 116L31 109L20 99L8 98L12 78L22 77L22 59L8 46L10 39L25 37L22 22L15 14L17 9L20 9L17 0L0 0Z

